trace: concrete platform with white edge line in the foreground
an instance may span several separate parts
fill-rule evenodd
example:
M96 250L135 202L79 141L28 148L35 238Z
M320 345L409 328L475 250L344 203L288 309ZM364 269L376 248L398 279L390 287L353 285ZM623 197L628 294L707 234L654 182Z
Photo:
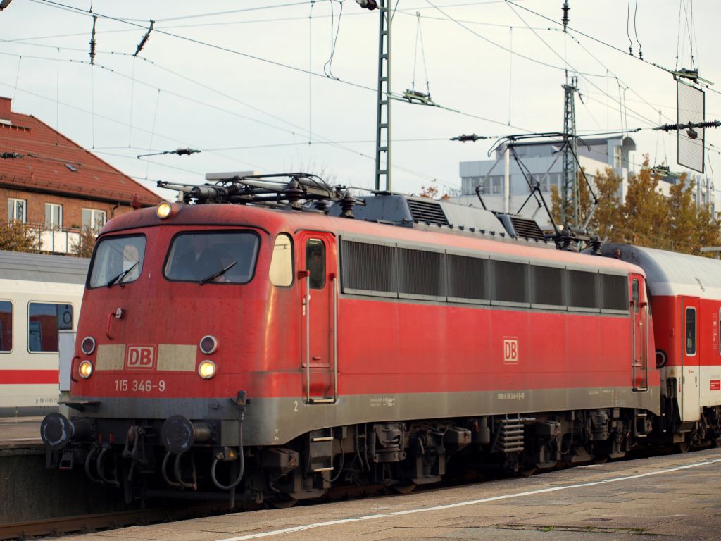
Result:
M721 540L721 449L65 541Z

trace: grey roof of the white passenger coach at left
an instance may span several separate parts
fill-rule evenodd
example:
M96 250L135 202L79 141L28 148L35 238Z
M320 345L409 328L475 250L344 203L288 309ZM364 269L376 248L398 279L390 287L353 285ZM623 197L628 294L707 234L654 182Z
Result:
M0 279L84 284L89 264L87 258L0 251Z

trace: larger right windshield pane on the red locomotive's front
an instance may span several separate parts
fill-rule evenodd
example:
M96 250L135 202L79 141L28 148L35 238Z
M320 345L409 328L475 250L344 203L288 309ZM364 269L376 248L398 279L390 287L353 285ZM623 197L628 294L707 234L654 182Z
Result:
M174 281L247 283L260 240L253 232L181 233L170 245L165 277Z

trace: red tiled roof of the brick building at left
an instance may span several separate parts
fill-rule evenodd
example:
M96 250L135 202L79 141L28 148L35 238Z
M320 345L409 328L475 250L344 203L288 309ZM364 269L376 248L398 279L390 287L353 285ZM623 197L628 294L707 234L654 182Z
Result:
M37 118L11 113L10 100L0 97L3 152L17 152L22 157L0 159L0 185L127 204L137 194L142 206L162 201L159 195Z

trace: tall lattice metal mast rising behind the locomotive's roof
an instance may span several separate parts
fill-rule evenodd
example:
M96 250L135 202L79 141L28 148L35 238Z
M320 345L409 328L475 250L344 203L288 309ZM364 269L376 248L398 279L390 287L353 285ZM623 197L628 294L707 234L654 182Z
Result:
M391 9L379 0L378 115L376 123L376 190L391 190ZM381 182L382 179L382 182Z

